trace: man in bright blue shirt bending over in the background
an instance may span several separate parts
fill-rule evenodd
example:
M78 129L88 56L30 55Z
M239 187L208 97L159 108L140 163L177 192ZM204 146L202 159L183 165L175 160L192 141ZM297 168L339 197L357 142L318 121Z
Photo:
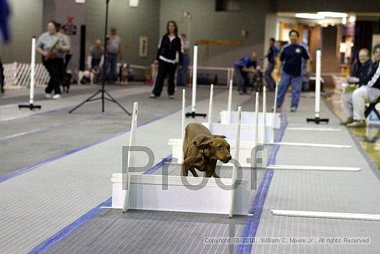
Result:
M254 68L251 68L254 67ZM235 73L238 81L239 94L247 93L247 87L249 86L249 73L256 73L256 52L252 52L251 55L240 59L235 63Z

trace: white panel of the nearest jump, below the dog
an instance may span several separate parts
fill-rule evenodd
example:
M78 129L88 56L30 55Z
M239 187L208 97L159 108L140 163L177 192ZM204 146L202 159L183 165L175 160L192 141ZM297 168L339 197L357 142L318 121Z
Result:
M208 178L204 187L191 190L189 185L200 185L204 178L164 176L167 177L167 183L164 183L162 175L129 174L129 176L131 185L128 209L229 214L231 190L220 188L218 182L229 186L232 184L232 179ZM113 174L111 181L112 207L121 208L122 174ZM247 181L238 181L240 186L235 192L234 214L247 215L249 210Z

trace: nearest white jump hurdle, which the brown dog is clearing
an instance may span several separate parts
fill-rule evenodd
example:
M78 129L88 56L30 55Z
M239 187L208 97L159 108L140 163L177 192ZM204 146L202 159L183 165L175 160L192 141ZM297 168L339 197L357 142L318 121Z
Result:
M182 93L184 95L184 93ZM129 145L135 145L137 132L137 107L133 106L133 118ZM182 114L183 115L183 114ZM128 210L162 210L176 212L200 212L232 215L247 215L249 210L249 188L246 180L203 178L184 176L162 176L129 172L134 165L133 152L128 161L123 161L123 173L115 173L112 207ZM233 169L236 171L236 168ZM238 188L232 188L238 183ZM202 188L192 188L192 186ZM226 188L220 188L224 185Z

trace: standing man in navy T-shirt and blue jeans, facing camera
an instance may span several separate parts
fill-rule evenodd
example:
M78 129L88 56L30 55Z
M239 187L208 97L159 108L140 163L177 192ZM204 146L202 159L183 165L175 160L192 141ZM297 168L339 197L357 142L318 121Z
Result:
M290 84L292 84L292 112L297 111L298 100L301 94L302 88L302 59L305 60L306 70L305 74L310 73L310 61L309 54L302 44L298 44L299 34L296 30L290 30L289 39L290 44L286 44L283 47L283 52L281 53L281 79L278 82L278 92L277 92L277 109L281 108L283 105L283 100L285 98L285 93Z

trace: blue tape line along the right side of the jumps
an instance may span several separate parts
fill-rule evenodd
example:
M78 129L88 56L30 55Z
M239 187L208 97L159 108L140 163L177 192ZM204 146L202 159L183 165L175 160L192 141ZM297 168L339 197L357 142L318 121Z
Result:
M276 142L280 142L283 139L283 136L285 134L285 128L287 127L287 118L286 118L284 110L281 116L283 117L283 123L281 124L281 129L276 138ZM268 165L276 164L276 155L277 155L278 149L280 149L280 145L274 145L269 157ZM241 235L242 237L256 236L258 225L260 224L261 214L263 213L265 199L267 198L269 186L270 186L270 183L272 182L273 174L274 174L274 170L265 171L264 178L257 189L256 197L251 207L251 214L253 215L248 217L247 221L245 221L245 227ZM253 243L239 244L238 247L236 248L235 253L236 254L243 254L243 253L251 254L252 246L253 246Z

